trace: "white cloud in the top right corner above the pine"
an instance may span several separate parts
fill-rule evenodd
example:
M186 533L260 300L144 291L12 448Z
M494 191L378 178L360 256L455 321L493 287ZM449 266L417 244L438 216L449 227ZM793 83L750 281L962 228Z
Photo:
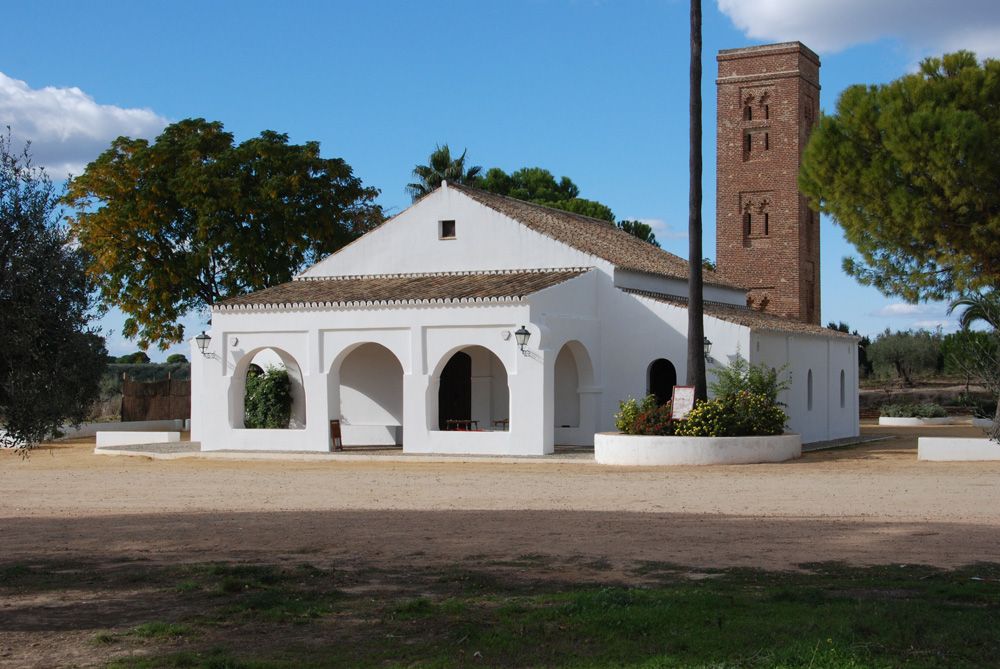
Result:
M921 53L1000 56L997 0L717 0L747 37L799 40L819 52L896 38Z

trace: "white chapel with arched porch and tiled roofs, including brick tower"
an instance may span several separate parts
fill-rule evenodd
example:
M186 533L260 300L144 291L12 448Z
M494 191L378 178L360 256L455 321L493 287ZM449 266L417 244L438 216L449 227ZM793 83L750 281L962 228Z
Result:
M758 92L750 104L764 100L773 123L758 114L748 121L753 131L770 127L775 155L798 153L797 144L782 145L783 80L767 77L785 76L782 59L811 52L798 43L722 52L720 75L732 54L741 67L749 59L763 69L759 80L739 74ZM720 99L729 95L723 79ZM745 89L726 107L733 114L745 114ZM789 106L798 118L798 98ZM746 128L736 126L744 146ZM720 119L720 156L729 141L722 127ZM808 223L797 204L783 208L780 186L766 197L763 235L745 214L728 216L728 202L718 225L743 230L741 251L780 248L788 264L789 245L778 242L805 239ZM732 205L745 209L742 199ZM721 229L718 237L733 239ZM818 249L818 231L815 242ZM706 271L704 291L708 369L736 356L787 366L789 429L804 443L859 432L857 339L821 327L815 301L808 318L766 308L783 303L789 276L813 288L810 277L799 279L803 267L818 277L818 257L809 262L794 260L795 271L767 285L720 263ZM337 420L348 447L405 453L544 455L591 445L595 432L614 429L621 399L669 399L684 383L687 273L682 258L606 221L444 183L294 281L213 308L207 351L192 342L191 438L203 450L328 451ZM247 429L247 370L269 361L291 377L292 421Z

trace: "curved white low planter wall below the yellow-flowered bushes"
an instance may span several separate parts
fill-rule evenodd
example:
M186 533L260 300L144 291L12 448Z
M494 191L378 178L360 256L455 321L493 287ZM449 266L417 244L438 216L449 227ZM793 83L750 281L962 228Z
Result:
M740 465L783 462L802 455L802 437L646 437L620 432L594 435L602 465Z

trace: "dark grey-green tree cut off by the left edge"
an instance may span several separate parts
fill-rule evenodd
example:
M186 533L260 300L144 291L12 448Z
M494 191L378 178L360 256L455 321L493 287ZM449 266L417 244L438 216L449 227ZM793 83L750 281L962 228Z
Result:
M0 136L0 446L30 448L97 398L104 340L83 252L58 224L52 182Z

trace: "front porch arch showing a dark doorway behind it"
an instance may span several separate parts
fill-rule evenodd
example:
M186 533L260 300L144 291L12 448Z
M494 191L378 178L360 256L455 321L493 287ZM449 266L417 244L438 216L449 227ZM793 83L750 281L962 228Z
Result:
M438 375L438 430L507 430L510 389L500 359L482 346L455 351Z

